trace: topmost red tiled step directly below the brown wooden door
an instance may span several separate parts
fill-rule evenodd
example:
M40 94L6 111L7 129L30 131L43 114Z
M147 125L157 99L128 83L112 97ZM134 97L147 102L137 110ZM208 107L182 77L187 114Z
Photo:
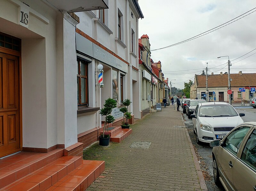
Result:
M0 189L64 155L64 149L48 153L19 152L0 159Z

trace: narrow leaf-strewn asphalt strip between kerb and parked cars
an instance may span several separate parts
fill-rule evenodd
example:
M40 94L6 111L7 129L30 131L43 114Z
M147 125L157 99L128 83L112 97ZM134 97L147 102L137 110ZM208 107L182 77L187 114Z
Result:
M182 108L180 108L180 110L182 111ZM210 147L209 143L208 144L203 143L202 145L198 145L196 143L195 134L193 133L192 119L188 119L186 114L183 114L183 119L185 121L188 134L194 146L194 150L196 152L199 164L201 166L208 190L209 191L225 191L225 189L222 186L221 187L216 186L213 180L212 154L211 154L212 148Z

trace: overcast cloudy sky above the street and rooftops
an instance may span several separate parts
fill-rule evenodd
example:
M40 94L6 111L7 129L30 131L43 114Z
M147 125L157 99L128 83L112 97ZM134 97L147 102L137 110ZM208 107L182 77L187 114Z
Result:
M229 56L232 64L230 73L256 72L256 50L253 50L256 48L255 0L139 0L138 2L144 15L144 18L139 20L139 37L143 34L149 36L151 50L190 39L247 11L251 13L249 15L246 13L243 15L247 15L244 18L238 17L241 19L236 18L237 21L233 20L235 22L202 37L152 51L151 58L154 62L161 61L164 77L172 80L173 86L183 89L184 81L194 80L194 75L201 74L207 62L210 74L227 72L228 57L217 59L219 56ZM246 54L250 51L252 52ZM240 56L242 57L238 58Z

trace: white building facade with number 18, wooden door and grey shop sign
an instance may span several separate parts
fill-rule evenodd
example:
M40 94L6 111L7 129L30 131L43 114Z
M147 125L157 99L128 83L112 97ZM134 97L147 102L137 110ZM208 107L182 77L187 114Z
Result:
M95 7L104 10L88 11ZM139 18L136 0L0 2L0 158L97 140L108 97L119 107L130 99L140 116ZM90 133L90 141L79 140Z

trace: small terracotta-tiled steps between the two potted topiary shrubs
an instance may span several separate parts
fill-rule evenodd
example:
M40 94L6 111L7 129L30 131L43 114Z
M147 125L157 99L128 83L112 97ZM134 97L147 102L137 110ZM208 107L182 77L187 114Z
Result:
M111 142L120 143L132 133L132 129L122 129L121 127L115 127L108 132L110 132Z

